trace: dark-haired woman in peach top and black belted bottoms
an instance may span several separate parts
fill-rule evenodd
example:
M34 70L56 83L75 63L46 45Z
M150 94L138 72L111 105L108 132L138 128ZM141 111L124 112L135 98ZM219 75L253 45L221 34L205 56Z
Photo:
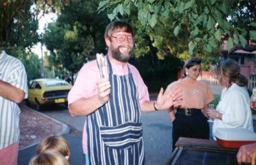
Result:
M169 109L169 116L173 124L173 150L180 137L209 139L206 110L214 97L207 85L196 81L201 74L201 59L188 59L184 70L184 79L173 82L166 89L166 93L169 93L170 90L178 87L182 89L183 95L181 105L179 107L172 106Z

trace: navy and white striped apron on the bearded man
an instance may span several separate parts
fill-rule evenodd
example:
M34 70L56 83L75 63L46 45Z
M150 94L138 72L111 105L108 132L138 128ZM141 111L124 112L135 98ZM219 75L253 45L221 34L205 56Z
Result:
M86 121L90 164L145 164L138 89L131 70L113 75L109 59L108 70L109 101Z

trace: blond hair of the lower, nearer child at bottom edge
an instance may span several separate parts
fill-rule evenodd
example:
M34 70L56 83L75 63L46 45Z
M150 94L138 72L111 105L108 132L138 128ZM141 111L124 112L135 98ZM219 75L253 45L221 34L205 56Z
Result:
M67 159L58 152L44 152L35 155L30 161L29 165L70 165Z

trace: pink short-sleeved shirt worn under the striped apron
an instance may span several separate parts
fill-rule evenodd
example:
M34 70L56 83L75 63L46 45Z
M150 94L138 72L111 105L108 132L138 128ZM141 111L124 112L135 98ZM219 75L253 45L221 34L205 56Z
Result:
M106 61L105 56L105 63ZM138 100L140 104L145 101L149 101L148 88L143 82L143 79L140 76L138 70L131 64L127 63L129 69L131 70L132 77L138 87L139 97ZM111 67L113 70L113 74L115 75L125 75L129 73L127 65L122 67L122 65L115 65L111 63ZM79 71L76 79L76 83L73 88L68 93L68 104L72 102L76 102L80 98L89 98L97 95L97 84L96 81L100 79L99 68L97 66L96 60L88 62L83 65L81 70ZM84 124L83 131L83 150L84 153L88 153L87 150L87 134L86 134L86 125Z

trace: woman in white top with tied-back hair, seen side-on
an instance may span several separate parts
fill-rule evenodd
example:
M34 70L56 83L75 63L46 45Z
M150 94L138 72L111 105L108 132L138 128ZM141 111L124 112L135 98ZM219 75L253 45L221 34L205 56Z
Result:
M233 59L226 59L214 67L214 72L225 88L216 109L207 111L209 117L215 119L212 135L218 128L244 128L253 131L250 97L246 90L248 81L240 74L239 65Z

